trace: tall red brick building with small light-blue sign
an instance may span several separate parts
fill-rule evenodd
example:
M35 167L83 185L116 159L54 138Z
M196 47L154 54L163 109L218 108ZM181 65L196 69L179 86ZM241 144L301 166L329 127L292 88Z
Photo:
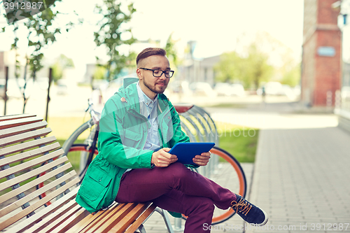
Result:
M341 89L342 32L339 10L332 8L335 1L304 0L301 101L307 106L334 106Z

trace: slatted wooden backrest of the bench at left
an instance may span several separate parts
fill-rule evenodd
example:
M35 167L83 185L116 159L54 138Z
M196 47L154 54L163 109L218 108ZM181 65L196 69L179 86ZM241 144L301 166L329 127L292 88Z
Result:
M67 171L71 164L66 156L59 157L64 151L55 136L48 136L51 129L46 125L36 115L0 117L0 230L25 221L17 224L21 227L16 232L22 232L69 202L71 209L77 206L73 199L79 179L74 170ZM38 198L43 193L45 197ZM57 199L62 193L65 198ZM44 211L34 214L50 201Z

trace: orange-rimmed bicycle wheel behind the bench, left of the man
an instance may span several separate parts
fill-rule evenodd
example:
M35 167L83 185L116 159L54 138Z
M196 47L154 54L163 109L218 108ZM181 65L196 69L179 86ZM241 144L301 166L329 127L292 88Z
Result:
M83 180L86 170L87 170L87 165L90 164L90 162L94 159L94 157L99 153L98 150L95 148L94 153L92 154L92 148L87 145L87 144L74 144L69 148L68 153L66 153L66 156L68 157L69 162L71 162L72 167L68 169L67 171L72 171L73 169L76 171L76 174L78 174L80 178L80 182ZM83 162L83 166L80 166L80 162L82 162L82 158L84 158L85 162ZM57 157L54 158L56 160ZM91 161L90 161L91 160ZM44 162L41 164L43 166L46 164ZM42 172L41 174L38 174L36 178L39 178L40 176L43 176L46 174L46 171ZM45 181L45 183L39 183L36 185L36 189L42 188L44 185L47 183L50 183L50 179L48 181ZM38 196L40 199L43 197L46 197L46 193L43 192L41 195ZM45 206L50 205L51 202L47 202Z

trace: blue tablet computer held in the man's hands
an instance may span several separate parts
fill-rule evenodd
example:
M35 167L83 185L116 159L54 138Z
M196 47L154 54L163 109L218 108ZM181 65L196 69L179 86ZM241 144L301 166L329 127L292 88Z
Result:
M193 158L196 155L200 155L204 152L208 152L215 146L215 143L176 143L176 145L169 150L169 154L176 155L178 157L177 162L182 164L192 164Z

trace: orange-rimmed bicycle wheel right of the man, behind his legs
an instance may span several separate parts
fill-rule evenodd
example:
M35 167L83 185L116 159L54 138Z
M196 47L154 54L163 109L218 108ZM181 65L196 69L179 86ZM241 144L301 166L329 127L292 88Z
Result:
M199 167L196 169L197 172L210 178L224 188L228 188L232 192L246 197L246 176L239 162L230 153L216 146L210 152L211 159L209 163L214 162L217 164L211 164L211 166L207 164L207 166ZM211 171L207 168L210 168ZM215 208L211 225L223 223L225 220L234 216L235 213L232 209L221 210ZM183 218L186 219L186 216L183 216Z

